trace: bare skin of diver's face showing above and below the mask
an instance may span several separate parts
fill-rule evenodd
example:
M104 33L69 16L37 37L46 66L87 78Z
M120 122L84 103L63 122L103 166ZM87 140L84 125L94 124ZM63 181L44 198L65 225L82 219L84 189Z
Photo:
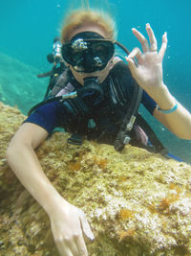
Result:
M82 32L88 32L88 31L95 32L99 35L102 35L104 38L106 38L106 35L100 28L93 25L86 25L74 30L74 32L70 35L70 39L72 39L74 35L77 35ZM69 64L69 67L74 75L75 80L81 83L82 85L84 84L84 79L90 78L90 77L96 77L99 83L103 82L107 78L112 66L113 66L113 58L109 60L109 62L107 63L104 69L98 70L92 73L83 73L83 72L76 71L74 67Z

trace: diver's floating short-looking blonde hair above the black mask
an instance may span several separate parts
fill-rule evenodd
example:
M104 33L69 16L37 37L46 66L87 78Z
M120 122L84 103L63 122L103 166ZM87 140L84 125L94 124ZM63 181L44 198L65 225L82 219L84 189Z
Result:
M97 26L107 39L112 41L117 39L117 26L113 18L106 12L91 10L89 8L75 10L66 17L61 29L61 42L68 42L74 30L84 25Z

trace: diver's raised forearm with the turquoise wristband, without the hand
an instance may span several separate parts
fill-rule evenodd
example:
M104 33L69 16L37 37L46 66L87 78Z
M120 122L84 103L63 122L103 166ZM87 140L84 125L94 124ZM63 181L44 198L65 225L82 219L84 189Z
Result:
M159 105L160 109L168 110L178 104L178 108L170 113L163 114L157 108L154 116L169 130L181 139L191 139L191 114L187 111L168 91L166 85L163 84L159 91L151 95L151 97Z

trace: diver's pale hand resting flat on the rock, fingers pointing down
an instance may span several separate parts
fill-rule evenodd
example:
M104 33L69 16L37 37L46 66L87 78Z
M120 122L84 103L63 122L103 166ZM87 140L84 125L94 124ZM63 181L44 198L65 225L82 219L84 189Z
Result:
M94 234L83 211L64 200L54 209L50 220L60 255L88 255L83 232L90 240L94 240Z

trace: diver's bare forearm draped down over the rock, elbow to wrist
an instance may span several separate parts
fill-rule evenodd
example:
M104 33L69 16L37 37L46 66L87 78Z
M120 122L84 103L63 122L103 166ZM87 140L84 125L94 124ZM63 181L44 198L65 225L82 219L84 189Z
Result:
M7 153L8 163L25 188L32 194L48 215L52 214L56 202L64 199L42 171L35 152L29 144L14 145Z

